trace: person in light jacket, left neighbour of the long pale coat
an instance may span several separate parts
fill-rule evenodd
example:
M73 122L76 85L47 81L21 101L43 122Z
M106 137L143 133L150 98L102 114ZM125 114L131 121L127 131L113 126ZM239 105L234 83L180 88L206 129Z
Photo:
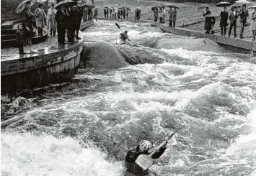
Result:
M35 9L35 21L37 23L38 35L43 36L43 28L45 28L46 14L42 9L43 4L39 4L38 8Z

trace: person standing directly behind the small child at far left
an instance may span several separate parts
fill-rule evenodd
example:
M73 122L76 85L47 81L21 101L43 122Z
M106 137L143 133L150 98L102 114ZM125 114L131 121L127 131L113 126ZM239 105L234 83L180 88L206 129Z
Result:
M22 27L26 29L25 33L25 39L28 42L28 45L30 45L30 52L35 52L32 50L32 37L33 37L33 24L32 24L32 18L34 17L34 14L30 11L31 2L27 1L25 9L22 11Z

